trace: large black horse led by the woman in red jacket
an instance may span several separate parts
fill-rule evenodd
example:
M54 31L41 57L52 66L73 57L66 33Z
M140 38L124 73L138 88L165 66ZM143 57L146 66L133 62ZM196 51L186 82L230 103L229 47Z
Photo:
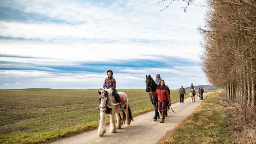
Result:
M146 75L146 92L156 92L158 85L156 84L156 82L153 80L153 78L150 75ZM170 89L169 87L166 85L168 93L170 94ZM155 116L153 118L153 121L156 121L157 118L160 118L159 116L159 112L158 112L158 98L157 97L152 97L152 95L149 93L149 98L152 102L152 104L154 105L155 108ZM154 98L154 99L153 99ZM167 109L165 109L165 117L167 117L167 111L169 111L170 109L170 105L166 106ZM166 108L165 107L165 108Z

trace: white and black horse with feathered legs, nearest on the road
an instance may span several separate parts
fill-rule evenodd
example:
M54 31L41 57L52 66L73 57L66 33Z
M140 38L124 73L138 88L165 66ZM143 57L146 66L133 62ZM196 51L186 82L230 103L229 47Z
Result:
M99 91L99 102L100 102L100 121L98 128L98 136L103 136L106 133L106 115L110 114L110 133L116 133L117 129L125 123L130 125L133 121L132 111L128 103L127 95L124 92L117 92L121 98L123 108L119 108L119 104L115 103L115 98L113 96L113 90L104 89ZM123 98L123 99L122 99ZM119 112L122 111L123 117ZM117 125L115 121L115 115L117 117ZM122 122L121 122L122 121Z

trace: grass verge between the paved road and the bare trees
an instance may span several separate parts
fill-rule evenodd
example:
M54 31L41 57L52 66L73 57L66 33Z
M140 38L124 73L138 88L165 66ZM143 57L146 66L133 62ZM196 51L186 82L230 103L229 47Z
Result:
M199 108L161 144L231 143L233 127L226 124L230 117L223 112L225 106L217 95L220 92L208 94Z

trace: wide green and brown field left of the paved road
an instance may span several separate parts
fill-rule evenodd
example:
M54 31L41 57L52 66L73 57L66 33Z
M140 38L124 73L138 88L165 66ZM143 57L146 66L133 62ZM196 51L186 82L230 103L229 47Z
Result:
M0 143L44 143L96 129L100 119L97 91L0 90ZM144 89L118 91L127 94L133 116L153 110ZM219 90L205 90L212 91ZM170 93L172 103L179 101L178 90Z

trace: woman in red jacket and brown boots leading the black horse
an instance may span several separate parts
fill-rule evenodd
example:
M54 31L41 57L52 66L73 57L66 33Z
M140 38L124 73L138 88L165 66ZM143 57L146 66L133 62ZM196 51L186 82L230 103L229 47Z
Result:
M157 90L155 93L150 92L153 96L158 97L158 109L160 111L161 115L161 121L160 123L164 122L165 119L165 113L164 109L167 104L171 104L170 94L168 93L167 87L164 84L164 80L160 80L160 85L157 87Z

